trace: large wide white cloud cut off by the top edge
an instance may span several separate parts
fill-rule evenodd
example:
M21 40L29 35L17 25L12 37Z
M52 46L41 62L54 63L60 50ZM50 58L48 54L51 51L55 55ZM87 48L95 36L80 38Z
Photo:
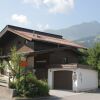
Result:
M74 8L74 0L23 0L38 8L45 6L50 13L67 13Z

